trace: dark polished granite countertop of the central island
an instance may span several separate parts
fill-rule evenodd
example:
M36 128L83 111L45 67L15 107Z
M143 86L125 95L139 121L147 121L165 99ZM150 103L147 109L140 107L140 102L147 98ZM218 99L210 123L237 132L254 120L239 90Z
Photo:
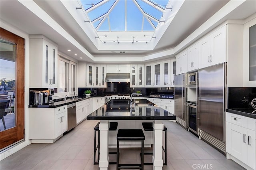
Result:
M176 116L150 101L136 105L135 109L130 109L129 102L110 101L88 115L87 120L176 120Z

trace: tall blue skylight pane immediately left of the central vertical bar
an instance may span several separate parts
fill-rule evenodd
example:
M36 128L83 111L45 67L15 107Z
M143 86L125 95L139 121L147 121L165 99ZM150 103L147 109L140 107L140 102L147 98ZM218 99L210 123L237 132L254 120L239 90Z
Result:
M111 31L125 31L124 7L125 1L120 0L110 12L109 19Z

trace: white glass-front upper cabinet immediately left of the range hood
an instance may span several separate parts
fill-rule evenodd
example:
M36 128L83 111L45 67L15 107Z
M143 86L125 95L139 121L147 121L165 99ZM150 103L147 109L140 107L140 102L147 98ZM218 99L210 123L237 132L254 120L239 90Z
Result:
M107 87L106 65L94 65L94 87Z

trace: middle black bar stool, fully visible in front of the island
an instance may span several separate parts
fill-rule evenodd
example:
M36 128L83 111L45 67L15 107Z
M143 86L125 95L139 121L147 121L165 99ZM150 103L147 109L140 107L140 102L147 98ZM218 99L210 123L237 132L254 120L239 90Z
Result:
M144 140L145 135L143 133L143 130L140 128L124 128L119 129L117 132L117 154L116 154L116 169L119 170L120 168L123 169L144 169ZM121 141L138 141L141 142L141 164L119 164L119 142Z

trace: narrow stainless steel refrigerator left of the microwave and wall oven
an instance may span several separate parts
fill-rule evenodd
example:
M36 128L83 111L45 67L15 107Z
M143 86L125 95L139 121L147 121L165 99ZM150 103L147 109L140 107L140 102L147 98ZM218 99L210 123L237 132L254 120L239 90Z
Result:
M186 73L174 77L174 113L176 121L187 128L186 123Z

